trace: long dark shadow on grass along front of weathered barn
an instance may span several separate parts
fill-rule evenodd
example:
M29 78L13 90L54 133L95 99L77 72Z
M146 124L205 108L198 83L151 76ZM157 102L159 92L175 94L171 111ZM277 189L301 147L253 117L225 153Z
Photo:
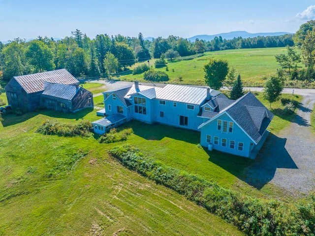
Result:
M16 115L14 113L5 114L3 116L3 121L1 122L3 127L15 125L24 121L27 121L31 118L33 118L36 115L42 114L53 118L63 118L63 119L75 119L79 120L83 117L85 117L88 113L92 112L93 108L85 108L83 110L80 110L76 113L63 113L60 111L53 111L53 110L39 110L39 111L32 111L27 112L23 115Z

